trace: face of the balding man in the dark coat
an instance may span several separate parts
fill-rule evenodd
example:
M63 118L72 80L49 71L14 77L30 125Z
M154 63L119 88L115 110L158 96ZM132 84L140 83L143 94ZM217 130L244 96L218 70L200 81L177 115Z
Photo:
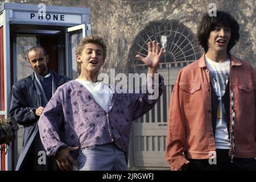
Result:
M48 55L44 56L42 49L38 48L28 52L28 61L31 68L39 75L45 76L48 73L47 63L49 59Z

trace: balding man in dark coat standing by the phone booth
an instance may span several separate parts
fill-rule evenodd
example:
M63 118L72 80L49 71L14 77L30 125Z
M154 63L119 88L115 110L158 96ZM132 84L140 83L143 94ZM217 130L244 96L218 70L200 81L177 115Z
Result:
M28 50L32 75L19 80L11 90L10 115L24 126L23 148L16 170L57 170L54 158L49 158L40 140L38 119L58 86L70 79L47 68L46 49L34 46Z

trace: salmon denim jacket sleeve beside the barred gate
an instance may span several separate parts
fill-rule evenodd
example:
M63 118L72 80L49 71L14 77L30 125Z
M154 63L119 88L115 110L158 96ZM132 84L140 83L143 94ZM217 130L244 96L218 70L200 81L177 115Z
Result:
M184 151L187 150L186 126L179 77L172 91L166 137L166 160L174 171L179 170L188 161L184 156Z

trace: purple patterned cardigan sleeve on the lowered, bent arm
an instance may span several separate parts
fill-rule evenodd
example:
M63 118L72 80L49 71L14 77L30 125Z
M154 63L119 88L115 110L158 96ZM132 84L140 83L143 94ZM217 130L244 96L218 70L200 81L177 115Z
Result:
M55 156L59 148L67 147L67 144L60 140L63 118L63 106L57 89L38 121L40 138L48 156Z

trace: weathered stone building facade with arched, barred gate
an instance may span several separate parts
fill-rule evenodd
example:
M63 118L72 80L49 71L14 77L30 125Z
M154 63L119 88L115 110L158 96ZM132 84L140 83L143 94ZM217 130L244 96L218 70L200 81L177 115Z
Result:
M154 109L133 123L130 143L130 169L169 169L164 159L168 106L177 74L185 65L199 59L203 49L196 40L197 25L211 3L228 11L240 23L240 40L232 49L238 57L256 68L255 0L67 0L0 1L47 6L86 7L90 10L91 33L107 45L103 73L143 73L146 68L135 55L145 55L146 43L156 40L165 48L159 72L166 88ZM47 9L46 9L47 11ZM24 38L20 38L20 44ZM27 40L27 39L26 39ZM31 41L36 42L31 38ZM23 59L23 58L22 58ZM19 137L22 137L20 131Z

